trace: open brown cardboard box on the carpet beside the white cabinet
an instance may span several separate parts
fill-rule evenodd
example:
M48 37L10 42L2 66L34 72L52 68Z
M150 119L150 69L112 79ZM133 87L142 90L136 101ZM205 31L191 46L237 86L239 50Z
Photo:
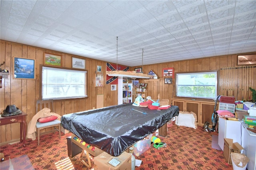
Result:
M241 150L244 149L238 142L233 143L233 139L224 138L224 149L223 155L228 164L232 164L230 157L231 153L241 153Z

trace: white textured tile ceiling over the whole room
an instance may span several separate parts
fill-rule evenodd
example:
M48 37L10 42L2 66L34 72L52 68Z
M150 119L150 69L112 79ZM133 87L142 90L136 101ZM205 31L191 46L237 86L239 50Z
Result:
M1 1L2 40L140 65L252 52L255 0ZM104 58L105 57L105 58Z

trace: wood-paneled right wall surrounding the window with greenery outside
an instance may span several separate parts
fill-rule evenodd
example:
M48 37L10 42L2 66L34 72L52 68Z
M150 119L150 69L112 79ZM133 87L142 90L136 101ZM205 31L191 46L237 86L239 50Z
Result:
M248 54L255 54L255 52L244 53L243 55ZM238 66L236 54L143 65L142 71L145 74L150 70L153 70L154 73L158 75L159 80L140 80L140 83L148 83L147 96L151 96L152 99L157 99L158 94L160 94L160 99L169 99L169 101L171 101L172 98L177 98L175 97L174 90L175 77L172 80L171 85L164 84L164 77L162 76L163 68L172 67L174 68L175 73L218 70L220 75L218 95L234 96L237 100L252 99L252 93L249 90L249 87L256 89L256 68L254 66L255 65ZM131 67L130 70L134 70L134 68L137 67Z

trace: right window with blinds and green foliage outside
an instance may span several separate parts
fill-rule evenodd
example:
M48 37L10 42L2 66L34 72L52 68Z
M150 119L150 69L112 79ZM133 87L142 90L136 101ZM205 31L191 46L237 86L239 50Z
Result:
M176 96L216 99L217 71L176 73Z

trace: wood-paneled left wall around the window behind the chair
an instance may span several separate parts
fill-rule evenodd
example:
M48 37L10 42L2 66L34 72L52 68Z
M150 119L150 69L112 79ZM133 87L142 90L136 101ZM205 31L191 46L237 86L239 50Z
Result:
M48 49L23 45L13 42L0 42L0 63L10 74L7 79L2 79L2 88L0 88L0 111L3 111L7 105L14 104L16 107L28 114L27 122L36 114L36 101L40 99L40 65L44 63L44 52L56 53L62 55L62 66L72 68L72 57L80 57L67 53L51 51ZM36 60L36 79L13 79L13 58L22 57ZM111 91L110 85L104 87L95 87L95 71L97 65L102 66L104 81L106 81L106 62L86 58L86 70L88 70L88 97L85 99L67 99L54 101L54 112L59 115L74 113L96 108L97 95L104 95L104 106L117 105L117 90ZM6 144L18 141L20 138L20 124L0 126L0 143Z

